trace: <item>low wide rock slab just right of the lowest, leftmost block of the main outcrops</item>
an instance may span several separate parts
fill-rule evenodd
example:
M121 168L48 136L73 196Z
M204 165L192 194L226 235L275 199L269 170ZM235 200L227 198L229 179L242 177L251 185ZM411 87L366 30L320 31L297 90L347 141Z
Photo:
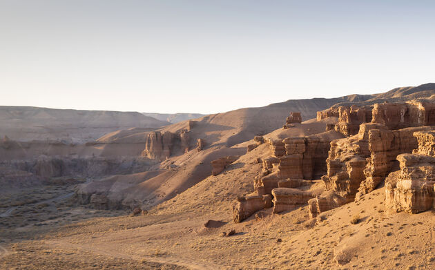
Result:
M273 189L273 213L295 209L313 197L309 191L300 189L278 188Z

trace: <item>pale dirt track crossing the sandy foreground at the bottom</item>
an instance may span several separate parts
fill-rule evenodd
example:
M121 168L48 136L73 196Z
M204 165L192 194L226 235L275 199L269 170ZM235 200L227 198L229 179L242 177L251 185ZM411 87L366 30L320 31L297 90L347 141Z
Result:
M113 251L110 249L104 249L104 247L95 247L87 244L72 244L70 242L62 241L62 240L46 240L44 241L46 244L49 244L52 247L56 247L57 249L82 249L88 252L97 253L99 255L106 255L114 258L122 258L122 259L130 259L130 260L146 260L148 262L157 262L161 264L175 264L177 266L189 267L189 269L226 269L226 267L214 264L212 262L197 262L195 260L190 260L189 258L175 258L175 257L150 257L150 256L139 256L132 255L122 252Z

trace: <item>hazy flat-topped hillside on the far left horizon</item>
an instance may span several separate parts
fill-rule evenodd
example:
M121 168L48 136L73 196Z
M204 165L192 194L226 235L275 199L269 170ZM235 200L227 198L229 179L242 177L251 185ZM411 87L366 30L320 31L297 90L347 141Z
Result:
M0 106L0 136L18 141L57 139L83 143L124 128L170 124L135 112Z

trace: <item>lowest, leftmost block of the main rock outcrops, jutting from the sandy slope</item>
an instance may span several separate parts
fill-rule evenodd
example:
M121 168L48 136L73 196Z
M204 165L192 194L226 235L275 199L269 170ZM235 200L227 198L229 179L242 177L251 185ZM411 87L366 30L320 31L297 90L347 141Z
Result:
M233 220L242 222L258 210L272 206L271 195L247 195L238 197L238 202L233 205Z

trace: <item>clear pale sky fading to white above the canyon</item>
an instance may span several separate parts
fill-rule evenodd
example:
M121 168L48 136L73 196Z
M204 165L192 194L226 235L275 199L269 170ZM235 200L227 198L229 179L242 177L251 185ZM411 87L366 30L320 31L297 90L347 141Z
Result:
M0 105L218 113L435 82L435 1L0 0Z

